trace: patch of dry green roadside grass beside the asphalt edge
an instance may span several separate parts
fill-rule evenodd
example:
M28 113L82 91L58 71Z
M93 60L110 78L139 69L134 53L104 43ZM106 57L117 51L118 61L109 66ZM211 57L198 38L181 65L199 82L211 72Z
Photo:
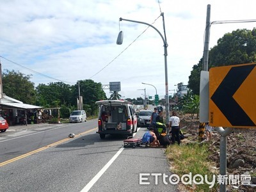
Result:
M212 169L212 164L214 163L207 159L209 156L208 147L208 143L193 143L189 145L171 145L166 148L166 156L170 161L171 171L179 175L179 178L189 173L191 173L192 179L196 174L204 177L203 184L192 182L182 186L182 188L186 188L188 191L191 191L191 189L193 191L217 191L217 182L215 182L212 188L209 188L211 185L205 182L205 175L207 175L209 182L212 181L213 175L217 175L216 170ZM196 180L196 182L200 182L200 180Z

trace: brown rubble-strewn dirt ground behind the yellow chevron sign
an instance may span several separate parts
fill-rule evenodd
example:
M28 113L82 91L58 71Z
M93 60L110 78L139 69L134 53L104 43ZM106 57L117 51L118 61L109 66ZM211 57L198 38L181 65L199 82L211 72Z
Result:
M180 120L180 127L183 128L187 139L186 143L198 142L199 121L184 115ZM256 129L234 129L227 136L227 175L250 174L256 176ZM201 141L204 142L205 140ZM209 146L209 159L214 161L217 168L220 167L220 134L212 132L212 140ZM227 189L232 189L227 186ZM256 188L248 188L244 185L238 186L237 191L255 191Z

